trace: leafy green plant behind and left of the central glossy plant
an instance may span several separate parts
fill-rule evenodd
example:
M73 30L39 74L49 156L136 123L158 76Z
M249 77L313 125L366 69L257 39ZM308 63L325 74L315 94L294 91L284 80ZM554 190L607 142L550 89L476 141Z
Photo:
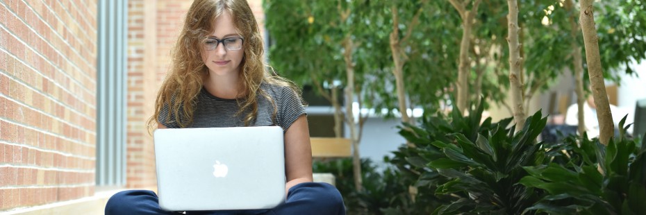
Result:
M427 166L429 162L447 157L442 149L433 142L452 143L456 137L452 133L463 134L466 139L475 141L481 134L492 128L507 127L511 119L491 123L488 118L481 120L483 104L477 109L470 110L470 115L463 116L456 110L449 116L442 114L426 114L419 126L404 123L399 131L408 141L408 146L400 146L393 157L386 161L399 171L401 186L417 187L418 191L401 193L393 200L390 211L399 214L429 214L441 205L447 205L455 200L454 196L465 197L464 193L436 193L439 184L445 184L449 179L440 175L438 169Z

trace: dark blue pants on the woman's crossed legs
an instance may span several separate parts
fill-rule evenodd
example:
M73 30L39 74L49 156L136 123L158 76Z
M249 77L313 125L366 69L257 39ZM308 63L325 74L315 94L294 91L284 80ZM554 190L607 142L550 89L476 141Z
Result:
M116 193L108 200L106 214L178 214L159 208L153 191L129 190ZM331 184L306 182L290 188L285 203L273 209L236 210L212 212L186 212L186 214L345 214L341 194Z

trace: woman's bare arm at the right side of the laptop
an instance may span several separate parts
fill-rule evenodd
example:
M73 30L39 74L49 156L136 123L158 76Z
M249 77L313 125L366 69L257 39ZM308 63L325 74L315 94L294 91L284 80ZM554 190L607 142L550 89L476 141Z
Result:
M312 146L306 115L301 115L285 132L285 192L302 182L312 182Z

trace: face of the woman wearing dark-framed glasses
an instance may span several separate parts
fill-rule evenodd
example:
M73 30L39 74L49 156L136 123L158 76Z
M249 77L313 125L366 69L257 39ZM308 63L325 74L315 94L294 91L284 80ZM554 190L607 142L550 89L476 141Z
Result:
M238 76L240 62L245 50L242 49L242 36L233 25L229 12L223 12L215 19L214 31L202 44L202 61L208 67L210 76Z

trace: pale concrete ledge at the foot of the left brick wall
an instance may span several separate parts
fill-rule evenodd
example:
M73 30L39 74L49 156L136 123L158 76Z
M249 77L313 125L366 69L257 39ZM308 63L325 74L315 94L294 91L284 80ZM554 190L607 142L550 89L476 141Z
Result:
M103 214L108 199L119 191L124 189L100 191L94 193L94 196L79 198L47 205L35 207L22 207L11 209L10 211L0 212L0 214Z

